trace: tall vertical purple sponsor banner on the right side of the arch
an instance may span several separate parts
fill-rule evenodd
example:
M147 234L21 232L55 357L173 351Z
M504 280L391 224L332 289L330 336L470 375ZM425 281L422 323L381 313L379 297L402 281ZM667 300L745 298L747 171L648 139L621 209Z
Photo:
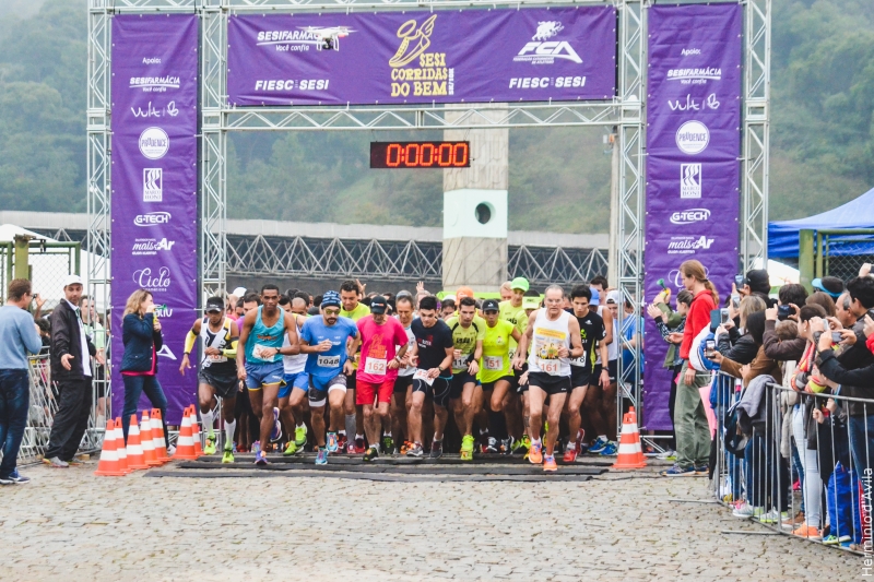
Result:
M649 9L645 296L697 259L722 298L739 264L741 4ZM672 427L668 344L647 318L643 426Z

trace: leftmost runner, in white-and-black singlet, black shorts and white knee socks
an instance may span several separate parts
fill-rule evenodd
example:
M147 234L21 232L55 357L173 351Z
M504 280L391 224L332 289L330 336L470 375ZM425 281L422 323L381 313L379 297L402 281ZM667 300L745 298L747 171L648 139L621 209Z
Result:
M237 406L237 322L225 316L225 305L221 297L206 299L206 316L194 321L185 338L179 372L185 376L191 369L189 354L198 337L203 340L203 359L198 371L198 401L200 418L206 429L204 454L215 454L215 430L213 428L212 400L222 399L222 418L225 421L225 446L222 463L234 462L234 431L237 421L234 411Z

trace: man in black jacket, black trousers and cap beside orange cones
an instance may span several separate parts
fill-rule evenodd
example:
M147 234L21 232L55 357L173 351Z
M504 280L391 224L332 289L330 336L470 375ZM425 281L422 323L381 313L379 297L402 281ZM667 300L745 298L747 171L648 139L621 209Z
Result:
M78 275L64 280L63 295L64 299L51 312L51 380L57 383L60 397L43 459L44 463L59 468L74 463L73 458L88 426L93 396L91 356L97 354L85 334L79 311L82 280Z

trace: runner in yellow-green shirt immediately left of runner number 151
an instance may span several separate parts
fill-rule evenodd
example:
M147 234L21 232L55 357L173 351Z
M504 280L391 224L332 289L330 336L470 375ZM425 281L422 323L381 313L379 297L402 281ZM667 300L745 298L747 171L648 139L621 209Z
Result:
M476 381L476 375L480 371L486 325L485 320L476 314L476 300L469 295L463 295L459 299L458 314L450 318L446 324L452 332L454 346L449 400L452 403L456 425L462 435L461 459L470 461L473 459L474 444L473 417L483 406L483 388Z

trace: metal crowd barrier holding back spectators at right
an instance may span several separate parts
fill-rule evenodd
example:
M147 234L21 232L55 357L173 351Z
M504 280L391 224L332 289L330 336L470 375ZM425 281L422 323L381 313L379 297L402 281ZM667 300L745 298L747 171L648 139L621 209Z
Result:
M764 414L739 426L740 415L728 413L743 397L740 380L718 373L711 391L710 483L719 502L775 533L874 559L874 400L770 383L759 400Z

